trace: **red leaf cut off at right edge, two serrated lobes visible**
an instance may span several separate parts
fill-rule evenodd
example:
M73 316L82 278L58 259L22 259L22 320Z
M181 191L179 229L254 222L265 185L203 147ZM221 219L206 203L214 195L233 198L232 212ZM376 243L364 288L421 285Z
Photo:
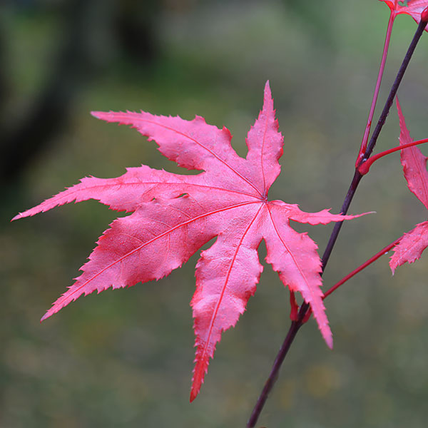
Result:
M404 121L401 106L397 98L397 108L399 116L399 143L400 146L406 143L412 143L409 131ZM425 205L428 209L428 172L427 157L422 155L416 146L404 148L401 151L401 162L404 170L404 177L410 191ZM425 248L428 247L428 221L416 225L409 233L404 233L402 239L394 247L394 254L389 260L389 266L394 273L398 266L404 263L413 263L419 259Z

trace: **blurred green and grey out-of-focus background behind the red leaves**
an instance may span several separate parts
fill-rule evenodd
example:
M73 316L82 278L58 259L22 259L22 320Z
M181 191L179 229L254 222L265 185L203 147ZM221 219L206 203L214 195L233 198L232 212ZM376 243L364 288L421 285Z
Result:
M90 201L9 220L84 175L141 163L178 172L154 143L89 111L198 114L227 126L245 156L267 79L285 136L271 198L338 212L388 11L375 0L1 2L0 427L245 425L289 325L288 293L264 261L248 312L189 404L198 255L163 280L82 297L40 325L116 214ZM397 18L382 102L415 29ZM399 90L415 139L428 134L427 71L424 34ZM398 134L392 111L377 150ZM427 218L397 154L372 168L352 203L352 213L373 210L343 228L327 287ZM330 226L297 228L325 248ZM335 350L313 321L302 328L259 427L426 427L427 256L394 277L387 261L327 300Z

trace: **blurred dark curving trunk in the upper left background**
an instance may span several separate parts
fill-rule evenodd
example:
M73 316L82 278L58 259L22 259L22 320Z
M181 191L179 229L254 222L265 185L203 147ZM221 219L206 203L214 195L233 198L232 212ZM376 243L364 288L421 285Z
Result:
M2 124L0 185L19 179L66 123L76 91L91 69L86 38L91 25L87 15L93 3L73 0L66 4L62 48L44 88L15 128Z

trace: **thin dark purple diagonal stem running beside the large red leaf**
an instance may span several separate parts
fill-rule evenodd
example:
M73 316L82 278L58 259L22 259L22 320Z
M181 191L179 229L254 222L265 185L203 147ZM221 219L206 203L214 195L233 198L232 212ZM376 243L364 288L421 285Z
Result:
M428 15L428 14L425 14ZM407 49L407 53L404 56L404 60L402 61L402 65L399 68L399 71L397 73L397 77L395 78L394 83L392 84L391 90L389 91L389 96L387 98L387 101L385 102L384 108L382 110L382 113L379 117L379 121L377 122L376 128L374 128L372 138L370 138L370 142L367 145L367 149L365 151L364 157L362 158L360 164L364 161L367 161L368 158L370 158L370 155L372 154L372 151L374 149L374 146L376 145L377 138L379 137L380 131L382 131L382 127L384 126L385 121L387 120L387 116L389 113L389 110L392 106L392 102L394 101L394 97L397 94L397 90L399 88L399 85L402 81L402 78L404 76L404 72L407 69L407 66L409 65L409 61L412 58L412 55L414 53L414 49L416 49L417 43L419 39L422 36L422 33L424 32L425 26L428 24L428 16L425 16L422 14L422 19L419 22L419 25L417 26L417 30L414 33L413 39L409 45L409 49ZM357 165L357 166L360 166ZM363 175L360 173L358 168L355 168L355 173L352 178L352 182L350 184L350 188L347 191L347 195L345 196L345 200L342 204L342 210L340 211L343 215L347 213L347 210L350 207L350 204L352 202L352 198L354 198L355 192L357 190L358 184L360 183L361 178ZM327 246L325 248L324 254L322 255L322 273L325 270L325 267L327 266L328 260L330 258L330 255L332 253L332 249L335 246L337 236L340 233L340 229L342 228L343 222L338 222L335 224L335 227L332 230L332 233L330 235L330 239L327 243ZM288 350L290 350L290 347L292 345L292 342L295 340L295 337L297 335L297 332L299 331L300 327L302 327L303 322L305 320L305 315L307 315L307 311L309 310L309 305L304 302L300 306L299 313L297 315L297 321L292 321L290 325L290 329L287 332L287 335L285 337L284 342L282 343L282 346L280 347L280 351L277 353L277 357L275 358L275 362L272 365L272 370L270 372L269 377L267 378L267 381L265 382L265 386L263 387L262 392L260 393L260 396L258 397L258 400L255 404L255 407L253 408L253 412L251 413L250 419L248 419L247 428L254 428L256 422L258 421L258 417L260 416L260 413L262 412L262 409L265 405L265 402L267 400L267 397L272 390L273 385L275 384L278 374L280 372L280 367L282 365L282 362L285 360L285 357L287 356Z

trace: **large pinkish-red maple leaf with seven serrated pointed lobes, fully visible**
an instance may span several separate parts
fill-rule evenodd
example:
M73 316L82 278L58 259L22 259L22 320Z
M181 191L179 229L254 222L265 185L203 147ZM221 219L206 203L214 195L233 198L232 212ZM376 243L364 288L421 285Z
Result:
M150 113L101 113L108 122L131 125L163 156L198 175L176 175L146 165L128 168L118 178L82 178L81 182L14 218L23 218L72 201L96 199L113 210L133 212L111 223L76 282L54 302L45 320L81 295L108 287L130 287L158 280L185 263L210 239L196 266L196 290L191 306L195 329L195 369L190 400L199 392L208 362L224 330L233 327L254 294L263 270L258 246L265 240L267 263L290 290L310 304L329 347L332 333L322 302L321 264L317 245L297 233L290 220L310 225L354 218L328 210L305 213L297 205L267 200L280 173L282 135L278 132L269 83L263 110L246 140L247 157L240 158L228 129Z

